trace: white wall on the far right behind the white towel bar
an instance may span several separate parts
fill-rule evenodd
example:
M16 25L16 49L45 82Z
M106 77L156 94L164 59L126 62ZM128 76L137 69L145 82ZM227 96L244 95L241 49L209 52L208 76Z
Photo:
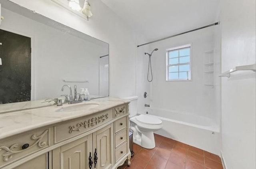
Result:
M255 64L255 0L222 0L222 72ZM255 73L222 78L222 155L227 169L255 169Z

